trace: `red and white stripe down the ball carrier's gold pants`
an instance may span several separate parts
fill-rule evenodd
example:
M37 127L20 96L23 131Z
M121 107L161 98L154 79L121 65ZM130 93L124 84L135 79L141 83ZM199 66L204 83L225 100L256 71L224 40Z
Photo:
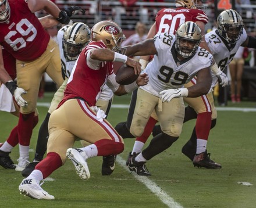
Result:
M106 123L104 120L102 122L100 122L96 119L95 112L93 110L91 110L91 108L87 105L86 102L81 101L79 99L77 101L79 101L79 105L83 109L84 113L86 113L88 117L90 117L92 120L94 120L99 125L101 125L101 127L104 128L104 130L106 132L108 132L108 135L112 138L112 140L115 140L116 142L122 141L122 139L120 138L120 135L115 131L115 129L113 129L113 127L111 125Z

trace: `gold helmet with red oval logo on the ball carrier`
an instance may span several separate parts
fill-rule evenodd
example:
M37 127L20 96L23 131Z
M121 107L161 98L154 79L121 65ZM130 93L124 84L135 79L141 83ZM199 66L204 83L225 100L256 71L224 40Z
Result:
M91 29L91 40L102 41L108 49L122 53L122 41L125 40L122 29L113 21L99 21Z

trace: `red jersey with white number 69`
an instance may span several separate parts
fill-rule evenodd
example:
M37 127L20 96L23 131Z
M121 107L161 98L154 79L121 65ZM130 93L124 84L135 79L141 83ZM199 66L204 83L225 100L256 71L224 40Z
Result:
M9 23L0 23L0 44L18 60L37 59L47 49L49 34L24 0L8 0Z

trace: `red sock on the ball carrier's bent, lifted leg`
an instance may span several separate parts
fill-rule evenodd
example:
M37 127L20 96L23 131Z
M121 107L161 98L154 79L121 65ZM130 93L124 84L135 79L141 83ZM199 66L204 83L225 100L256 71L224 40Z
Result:
M101 139L94 143L98 149L97 156L118 155L123 152L125 145L122 142L115 142L110 139Z

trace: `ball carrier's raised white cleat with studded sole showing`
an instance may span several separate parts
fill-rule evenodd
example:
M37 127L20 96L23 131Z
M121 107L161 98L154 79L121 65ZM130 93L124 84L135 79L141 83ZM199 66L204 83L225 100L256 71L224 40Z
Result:
M66 156L72 161L76 168L76 173L82 180L88 180L91 175L86 160L88 156L86 152L79 148L67 149Z

